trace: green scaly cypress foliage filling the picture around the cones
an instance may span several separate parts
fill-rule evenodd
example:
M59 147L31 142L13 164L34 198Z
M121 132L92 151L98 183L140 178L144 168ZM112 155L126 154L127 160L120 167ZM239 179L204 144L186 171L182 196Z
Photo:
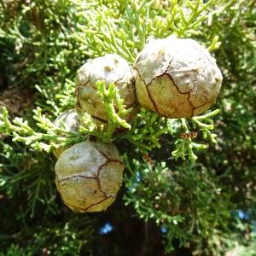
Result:
M237 210L255 212L256 203L254 2L3 0L0 90L31 88L36 109L12 119L3 108L0 117L0 133L15 141L0 138L1 253L91 253L96 224L91 224L90 216L68 212L55 189L55 160L33 149L49 152L92 135L121 145L129 155L125 158L125 203L139 218L166 228L166 252L183 246L191 254L215 256L236 247L241 255L254 255L250 224L255 213L240 222L236 216ZM133 63L148 38L173 33L193 37L214 50L224 73L218 116L215 110L192 119L165 119L141 109L130 127L123 119L125 108L118 91L111 84L106 88L98 83L99 95L112 117L107 130L97 127L88 114L82 118L79 133L67 133L65 127L53 125L58 114L74 108L74 78L86 59L118 53ZM113 102L119 102L117 111ZM212 133L213 117L217 136ZM119 125L125 132L113 132ZM181 137L189 132L196 132L197 137ZM198 150L207 148L208 143L211 148ZM149 153L155 165L143 162L142 153ZM121 226L134 223L136 218L127 217L126 207L114 205L112 209L96 215L96 223L110 215L119 221L124 217ZM141 227L134 233L125 230L131 234L128 240L137 237ZM137 239L133 247L141 247L142 240ZM96 244L93 254L108 255L102 248L113 241L107 241ZM114 243L122 247L120 251L130 250L123 248L123 243Z

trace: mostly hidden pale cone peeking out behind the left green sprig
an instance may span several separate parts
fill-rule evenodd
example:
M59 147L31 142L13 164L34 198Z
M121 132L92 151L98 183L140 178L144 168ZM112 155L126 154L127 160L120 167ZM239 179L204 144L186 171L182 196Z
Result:
M54 125L66 131L79 131L79 115L75 109L65 111L55 119ZM55 157L58 158L65 149L67 148L55 149L53 152Z

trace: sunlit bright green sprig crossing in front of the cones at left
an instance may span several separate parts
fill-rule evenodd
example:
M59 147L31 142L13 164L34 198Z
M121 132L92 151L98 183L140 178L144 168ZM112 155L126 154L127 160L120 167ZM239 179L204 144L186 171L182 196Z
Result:
M108 131L103 131L104 127L98 128L88 113L81 114L80 133L67 131L65 125L62 128L55 126L45 114L42 114L41 108L33 110L33 119L37 121L38 128L44 131L44 133L33 130L27 121L21 118L16 117L12 122L9 121L9 112L6 108L3 108L0 115L0 131L4 134L12 135L14 142L25 143L35 150L48 153L55 148L67 148L73 144L80 143L91 135L99 137L102 142L109 143L117 127L131 128L131 125L121 118L125 117L128 110L125 109L123 105L124 100L120 98L114 84L108 84L107 89L106 84L99 81L96 86L98 94L108 112ZM65 95L63 97L59 95L59 98L61 98L62 102L69 103Z

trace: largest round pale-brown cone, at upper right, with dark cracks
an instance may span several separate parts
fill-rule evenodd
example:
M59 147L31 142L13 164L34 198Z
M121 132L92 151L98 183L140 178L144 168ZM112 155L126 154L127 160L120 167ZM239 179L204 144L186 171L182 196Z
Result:
M151 40L134 64L138 102L168 118L187 118L216 101L222 74L215 60L192 39Z

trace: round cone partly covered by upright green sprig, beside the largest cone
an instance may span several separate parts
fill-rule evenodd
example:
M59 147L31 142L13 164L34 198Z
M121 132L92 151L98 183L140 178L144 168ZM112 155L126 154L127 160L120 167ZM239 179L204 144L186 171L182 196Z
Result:
M96 125L108 123L108 113L97 95L97 81L104 81L107 87L108 84L114 83L126 109L136 105L132 68L125 59L113 54L90 60L80 67L77 73L76 108L79 112L90 113L96 120ZM129 121L134 114L128 114L125 119Z

